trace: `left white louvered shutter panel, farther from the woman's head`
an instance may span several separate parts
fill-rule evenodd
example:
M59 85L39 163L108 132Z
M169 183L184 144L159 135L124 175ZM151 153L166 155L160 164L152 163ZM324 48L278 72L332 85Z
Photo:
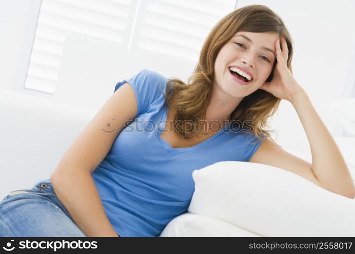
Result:
M68 34L122 44L130 7L130 0L43 0L24 87L54 93Z

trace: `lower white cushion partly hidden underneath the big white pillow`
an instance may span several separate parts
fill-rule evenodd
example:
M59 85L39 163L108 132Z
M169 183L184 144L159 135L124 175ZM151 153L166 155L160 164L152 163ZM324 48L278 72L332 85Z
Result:
M260 237L220 219L193 213L183 213L165 227L160 237Z

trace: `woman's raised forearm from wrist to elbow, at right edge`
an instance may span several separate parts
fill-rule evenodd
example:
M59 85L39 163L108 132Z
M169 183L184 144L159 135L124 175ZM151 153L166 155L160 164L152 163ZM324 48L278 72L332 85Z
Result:
M353 198L354 182L344 158L306 92L300 92L290 102L297 111L309 141L314 175L324 188Z

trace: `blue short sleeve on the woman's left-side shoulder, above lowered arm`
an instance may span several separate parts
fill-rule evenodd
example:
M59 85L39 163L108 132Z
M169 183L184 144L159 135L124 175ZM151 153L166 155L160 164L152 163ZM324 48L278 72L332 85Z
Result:
M163 75L144 69L133 77L118 82L114 92L125 82L131 85L137 100L137 117L143 114L149 108L150 104L160 96L163 96L162 90L165 92L164 88L167 81L168 79ZM160 90L159 87L162 90Z

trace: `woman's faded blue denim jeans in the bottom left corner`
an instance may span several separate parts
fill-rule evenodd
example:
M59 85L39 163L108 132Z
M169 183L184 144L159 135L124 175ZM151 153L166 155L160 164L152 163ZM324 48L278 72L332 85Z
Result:
M50 179L11 192L0 203L0 236L86 237L58 200Z

